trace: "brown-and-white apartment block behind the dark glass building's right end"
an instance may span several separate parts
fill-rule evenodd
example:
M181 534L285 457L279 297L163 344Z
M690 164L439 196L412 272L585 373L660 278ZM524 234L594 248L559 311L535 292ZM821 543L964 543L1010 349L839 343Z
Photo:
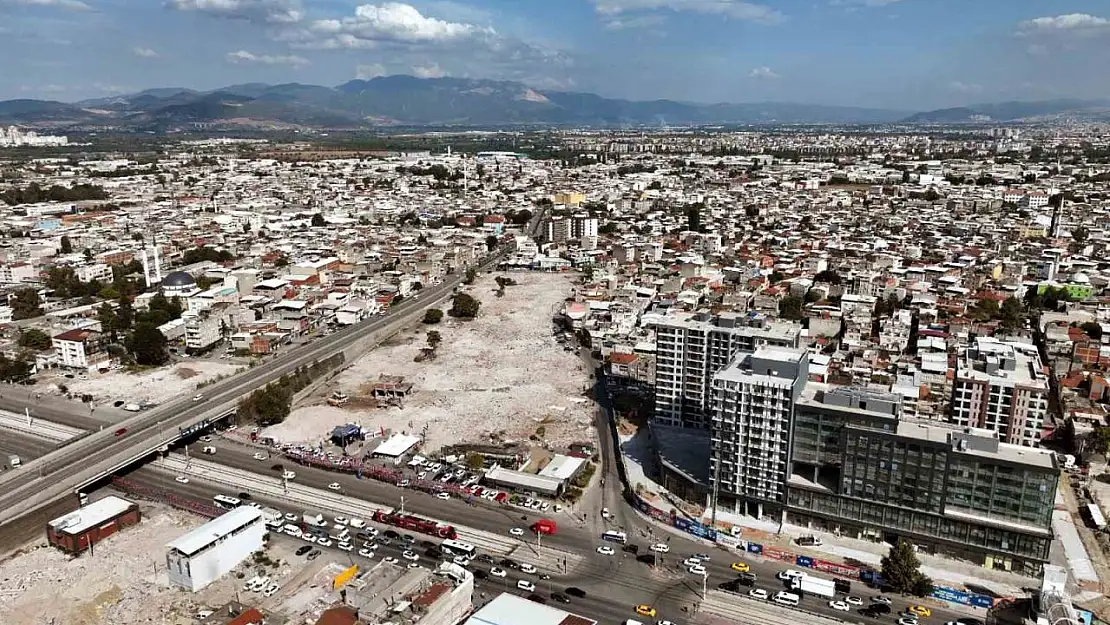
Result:
M1036 346L979 336L957 364L951 421L989 430L1003 443L1037 446L1048 413L1048 390Z

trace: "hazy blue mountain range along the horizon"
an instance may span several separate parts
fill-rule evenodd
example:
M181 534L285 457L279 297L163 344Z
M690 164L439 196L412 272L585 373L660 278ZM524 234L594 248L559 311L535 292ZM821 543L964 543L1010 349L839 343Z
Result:
M391 125L625 125L748 123L951 123L1015 121L1081 112L1102 114L1107 102L1007 102L914 113L789 102L699 104L633 101L594 93L533 89L519 82L391 75L337 87L234 84L211 91L148 89L65 103L0 101L0 125L114 127L164 130L205 124L254 128L374 128Z

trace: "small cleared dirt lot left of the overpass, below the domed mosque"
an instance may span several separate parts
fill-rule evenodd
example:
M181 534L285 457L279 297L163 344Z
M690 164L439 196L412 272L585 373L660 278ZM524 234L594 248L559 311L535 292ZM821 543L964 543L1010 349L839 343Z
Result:
M161 404L181 395L191 395L196 392L198 384L209 383L221 376L231 376L242 369L209 361L185 361L143 373L125 371L90 373L88 380L51 375L41 380L36 387L47 393L61 394L58 385L64 384L71 394L90 394L92 401L98 404L118 400Z

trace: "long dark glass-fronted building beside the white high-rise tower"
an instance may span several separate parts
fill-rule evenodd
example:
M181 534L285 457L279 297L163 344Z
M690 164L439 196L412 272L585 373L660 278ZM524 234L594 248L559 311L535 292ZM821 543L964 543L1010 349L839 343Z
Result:
M991 431L900 420L900 397L809 383L796 402L786 501L793 524L906 538L983 566L1048 561L1059 470Z

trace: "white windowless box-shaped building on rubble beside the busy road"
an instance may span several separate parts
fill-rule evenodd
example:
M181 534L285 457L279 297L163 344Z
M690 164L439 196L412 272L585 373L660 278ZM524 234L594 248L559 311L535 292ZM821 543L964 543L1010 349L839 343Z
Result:
M262 548L262 511L243 506L218 516L167 545L170 582L196 592Z

